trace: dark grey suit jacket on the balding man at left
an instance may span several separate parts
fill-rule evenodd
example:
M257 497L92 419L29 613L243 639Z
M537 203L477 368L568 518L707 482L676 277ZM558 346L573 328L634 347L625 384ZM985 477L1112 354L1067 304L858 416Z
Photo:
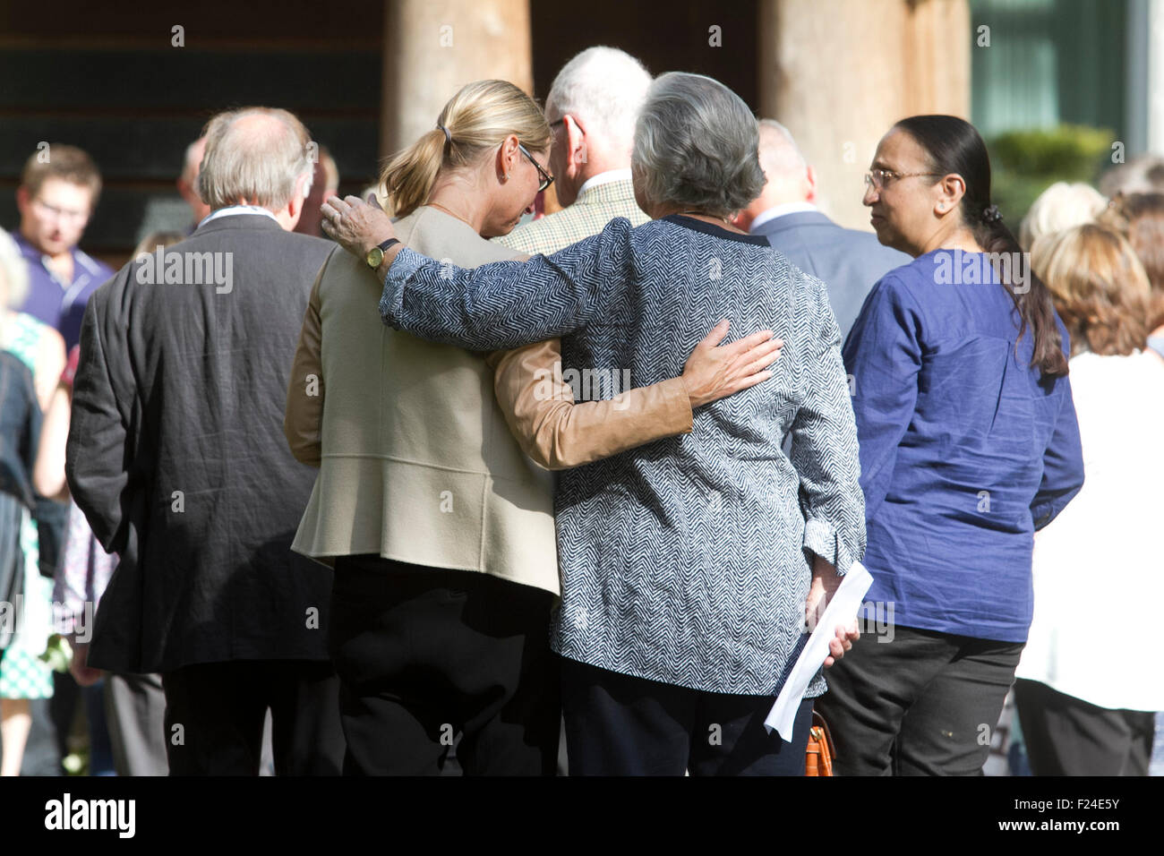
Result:
M328 658L332 572L291 552L315 473L291 457L283 406L333 247L222 217L166 250L180 273L134 260L88 300L65 474L120 558L90 665Z

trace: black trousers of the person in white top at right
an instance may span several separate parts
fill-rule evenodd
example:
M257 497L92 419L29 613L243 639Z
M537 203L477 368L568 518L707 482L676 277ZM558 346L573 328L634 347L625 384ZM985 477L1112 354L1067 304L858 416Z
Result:
M1155 713L1098 707L1022 678L1015 706L1036 776L1148 774Z

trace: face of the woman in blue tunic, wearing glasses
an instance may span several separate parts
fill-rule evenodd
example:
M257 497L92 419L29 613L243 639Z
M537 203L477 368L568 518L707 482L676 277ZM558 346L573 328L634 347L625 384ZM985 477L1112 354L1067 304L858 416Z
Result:
M865 185L861 201L885 246L918 255L941 227L937 218L957 204L946 198L941 176L918 175L930 171L925 150L909 134L893 129L881 137L870 165L872 183Z

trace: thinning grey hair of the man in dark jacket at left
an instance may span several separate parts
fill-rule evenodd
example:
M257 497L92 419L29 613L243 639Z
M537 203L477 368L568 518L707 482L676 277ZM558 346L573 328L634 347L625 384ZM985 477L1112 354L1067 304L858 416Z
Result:
M241 123L254 116L269 121ZM304 196L311 190L314 147L292 113L274 107L226 111L211 119L205 136L198 196L212 211L236 205L239 199L278 210L290 201L300 181Z

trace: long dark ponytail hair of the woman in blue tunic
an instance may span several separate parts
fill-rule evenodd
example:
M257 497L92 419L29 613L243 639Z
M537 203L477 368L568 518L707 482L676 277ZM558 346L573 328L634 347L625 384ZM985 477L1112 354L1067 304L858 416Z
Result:
M1015 288L1015 274L1018 271L995 264L995 274L1018 312L1018 338L1022 339L1030 328L1035 338L1030 365L1037 366L1044 377L1066 375L1067 360L1063 355L1063 339L1055 323L1051 293L1043 281L1035 276L1018 241L1003 225L999 210L991 203L991 157L982 137L973 125L958 116L909 116L893 127L909 134L925 150L931 172L943 176L956 172L961 176L966 183L966 192L961 197L961 218L978 245L986 253L1006 253L1010 259L1022 260L1030 285L1024 293ZM1017 348L1017 342L1015 347Z

